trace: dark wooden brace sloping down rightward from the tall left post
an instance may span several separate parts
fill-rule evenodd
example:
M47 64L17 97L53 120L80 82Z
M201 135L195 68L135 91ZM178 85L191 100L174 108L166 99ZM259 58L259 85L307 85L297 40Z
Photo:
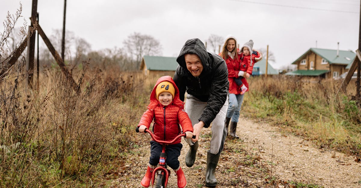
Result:
M55 50L54 46L51 44L50 40L48 39L48 37L45 35L43 29L40 27L39 23L36 20L32 20L34 23L36 23L36 30L38 30L39 35L42 37L44 43L47 45L49 51L51 52L51 54L53 55L55 61L58 63L58 65L61 68L61 71L64 73L66 79L68 80L68 82L70 83L71 87L73 87L73 89L75 91L79 91L78 90L78 85L75 83L73 77L71 76L69 70L66 68L64 62L62 61L60 55L58 54L58 52Z

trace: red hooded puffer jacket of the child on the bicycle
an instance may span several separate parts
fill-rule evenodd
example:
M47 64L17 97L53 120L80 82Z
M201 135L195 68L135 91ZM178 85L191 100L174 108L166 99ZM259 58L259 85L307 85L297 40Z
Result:
M162 81L171 82L175 89L174 99L168 106L162 105L156 99L156 88ZM150 99L151 102L148 105L148 110L145 111L142 118L140 118L138 127L145 125L147 129L149 129L152 121L154 121L153 134L157 139L165 141L171 141L181 133L179 124L182 126L183 133L186 131L193 132L192 121L186 111L184 111L184 103L179 99L179 90L172 77L160 77L152 90ZM176 140L174 144L178 143L181 143L181 138Z

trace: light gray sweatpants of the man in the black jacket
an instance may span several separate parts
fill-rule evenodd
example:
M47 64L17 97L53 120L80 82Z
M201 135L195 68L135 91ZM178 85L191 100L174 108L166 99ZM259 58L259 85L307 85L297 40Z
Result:
M187 100L185 105L185 110L188 113L189 118L192 121L192 126L199 122L199 117L202 115L203 110L207 106L207 102L202 102L199 99L195 98L193 95L187 94ZM220 154L223 150L225 139L226 139L226 129L225 129L225 119L228 109L228 96L225 104L217 114L216 118L212 121L212 139L210 140L210 153ZM186 142L189 145L194 143L190 138L185 138Z

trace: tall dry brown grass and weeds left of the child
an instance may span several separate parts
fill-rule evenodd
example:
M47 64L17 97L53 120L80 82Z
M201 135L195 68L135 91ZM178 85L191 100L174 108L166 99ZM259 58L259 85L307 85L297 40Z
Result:
M73 71L79 93L56 69L41 72L34 90L22 66L2 80L1 187L89 185L121 164L157 78L83 66Z

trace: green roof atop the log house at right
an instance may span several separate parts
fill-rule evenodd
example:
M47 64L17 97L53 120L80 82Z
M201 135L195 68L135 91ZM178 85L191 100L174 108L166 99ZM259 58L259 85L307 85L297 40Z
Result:
M337 50L330 49L321 49L321 48L310 48L304 54L302 54L299 58L296 59L292 64L297 64L301 58L303 58L310 51L316 53L322 58L326 59L330 64L350 64L353 59L355 59L356 54L352 51L339 50L339 55L337 56Z

